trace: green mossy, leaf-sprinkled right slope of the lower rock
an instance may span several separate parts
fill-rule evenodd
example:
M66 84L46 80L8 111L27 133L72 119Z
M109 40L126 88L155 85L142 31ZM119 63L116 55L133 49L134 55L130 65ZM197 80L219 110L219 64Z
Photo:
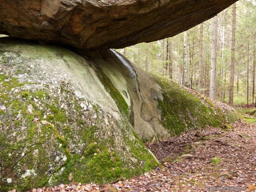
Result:
M160 123L173 136L189 129L233 123L237 118L236 112L227 110L223 113L208 98L196 98L170 80L157 78L157 81L162 88L163 97L158 98L158 108L162 114Z

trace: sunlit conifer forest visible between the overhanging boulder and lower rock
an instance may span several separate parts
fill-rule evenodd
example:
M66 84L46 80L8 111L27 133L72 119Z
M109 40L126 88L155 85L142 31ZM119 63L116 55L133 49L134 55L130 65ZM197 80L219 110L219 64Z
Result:
M117 51L145 71L211 98L230 105L255 103L255 5L255 0L237 1L174 37Z

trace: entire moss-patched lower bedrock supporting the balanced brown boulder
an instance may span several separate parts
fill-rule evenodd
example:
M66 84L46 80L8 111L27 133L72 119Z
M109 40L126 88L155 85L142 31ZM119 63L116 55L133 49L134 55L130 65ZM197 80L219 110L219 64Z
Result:
M75 52L0 38L0 191L139 175L159 165L143 142L238 118L113 50Z

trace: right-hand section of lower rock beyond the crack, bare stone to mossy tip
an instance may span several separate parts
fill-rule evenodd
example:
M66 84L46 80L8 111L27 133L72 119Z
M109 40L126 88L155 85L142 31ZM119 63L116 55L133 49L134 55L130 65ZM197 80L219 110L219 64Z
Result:
M144 131L144 142L150 143L153 138L167 140L190 129L218 127L240 118L236 110L224 103L134 67L143 101L141 117L151 124L151 129L134 127L138 135Z

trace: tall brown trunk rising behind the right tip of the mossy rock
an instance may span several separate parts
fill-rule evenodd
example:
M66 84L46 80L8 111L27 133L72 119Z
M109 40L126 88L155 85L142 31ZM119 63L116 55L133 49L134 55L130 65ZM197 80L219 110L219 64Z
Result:
M235 64L235 44L236 44L236 3L233 4L232 20L232 44L231 44L231 64L230 64L230 86L229 105L233 106L234 97L234 64Z

